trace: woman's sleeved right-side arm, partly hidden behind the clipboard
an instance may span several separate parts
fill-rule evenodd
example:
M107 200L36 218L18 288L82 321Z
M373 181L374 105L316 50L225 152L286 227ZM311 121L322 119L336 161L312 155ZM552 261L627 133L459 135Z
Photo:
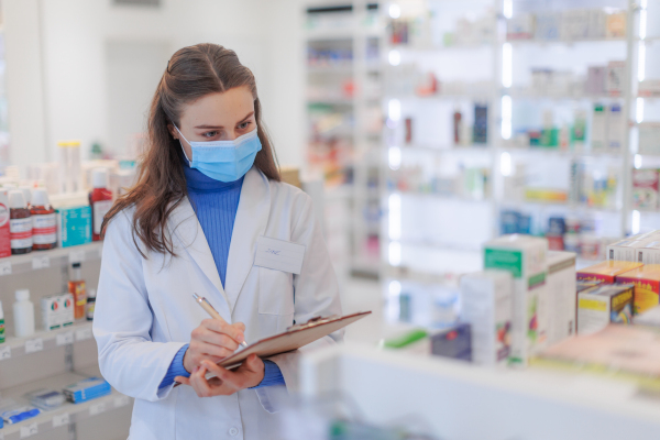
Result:
M312 201L309 196L301 194L300 216L292 241L304 244L305 260L300 275L294 275L295 315L296 322L307 322L310 318L330 315L341 315L339 285L337 275L330 262L330 255L321 232L318 219L315 218ZM334 344L343 339L343 331L332 333L299 351L277 354L270 360L277 364L286 383L287 389L298 389L298 361L300 352L314 350L323 345ZM268 411L276 410L276 391L265 387L256 389L262 406Z

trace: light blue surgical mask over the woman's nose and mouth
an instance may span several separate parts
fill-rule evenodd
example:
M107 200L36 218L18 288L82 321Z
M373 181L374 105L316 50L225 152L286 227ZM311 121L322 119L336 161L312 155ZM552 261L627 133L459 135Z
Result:
M256 129L233 141L190 142L176 125L174 128L190 144L191 161L184 150L190 168L199 169L206 176L220 182L234 182L243 177L252 168L254 157L262 148Z

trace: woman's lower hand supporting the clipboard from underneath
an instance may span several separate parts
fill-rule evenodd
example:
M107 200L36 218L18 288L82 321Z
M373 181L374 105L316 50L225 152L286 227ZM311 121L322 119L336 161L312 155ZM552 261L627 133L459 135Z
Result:
M207 372L216 374L216 377L207 380ZM212 397L230 396L261 384L263 378L264 362L256 354L251 354L235 370L223 369L209 360L201 361L201 365L193 371L190 377L176 376L175 381L190 385L199 397Z

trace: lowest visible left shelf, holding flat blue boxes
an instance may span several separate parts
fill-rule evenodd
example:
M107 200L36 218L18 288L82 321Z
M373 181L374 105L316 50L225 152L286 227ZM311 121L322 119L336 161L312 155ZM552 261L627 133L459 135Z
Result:
M28 405L28 400L23 396L31 391L38 388L63 389L75 382L91 376L100 376L98 366L85 369L79 373L65 373L42 381L32 382L26 385L9 388L2 392L2 397L12 398L19 404L23 403ZM81 404L72 404L67 402L59 408L51 411L43 411L41 415L31 419L14 425L4 425L4 428L0 429L0 438L4 436L4 440L19 440L36 433L43 435L44 432L48 432L58 427L68 426L69 424L79 422L100 414L124 407L130 405L132 400L131 397L112 389L112 393L108 396Z

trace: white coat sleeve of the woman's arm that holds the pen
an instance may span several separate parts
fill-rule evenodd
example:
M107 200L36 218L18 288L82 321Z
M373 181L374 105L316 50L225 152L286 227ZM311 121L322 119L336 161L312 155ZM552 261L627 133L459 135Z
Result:
M92 329L103 377L123 394L154 402L169 394L172 386L158 385L184 343L152 341L154 316L131 230L124 212L108 226Z

